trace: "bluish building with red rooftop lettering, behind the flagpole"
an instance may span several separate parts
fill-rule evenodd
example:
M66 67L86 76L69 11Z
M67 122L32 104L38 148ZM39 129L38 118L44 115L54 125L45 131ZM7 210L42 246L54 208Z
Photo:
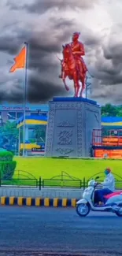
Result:
M48 105L31 105L27 104L26 106L26 115L43 115L47 116L48 113ZM24 115L24 107L22 104L10 105L10 104L2 104L0 105L0 119L2 119L3 123L6 121L15 121L18 118Z

